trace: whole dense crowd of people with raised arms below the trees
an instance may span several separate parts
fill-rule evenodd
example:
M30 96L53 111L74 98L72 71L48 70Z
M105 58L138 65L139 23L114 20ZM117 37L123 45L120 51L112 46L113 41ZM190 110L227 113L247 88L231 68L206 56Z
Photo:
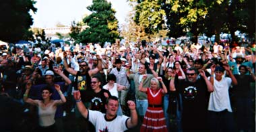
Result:
M63 117L73 113L73 131L255 131L255 49L12 47L0 56L0 129L21 130L28 119L26 131L67 131Z

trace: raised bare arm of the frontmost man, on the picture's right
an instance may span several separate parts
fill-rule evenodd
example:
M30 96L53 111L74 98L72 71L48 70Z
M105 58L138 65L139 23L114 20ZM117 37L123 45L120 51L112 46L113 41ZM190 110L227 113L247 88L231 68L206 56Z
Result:
M128 128L135 127L138 122L137 112L135 109L136 108L135 103L133 101L127 101L127 104L130 109L131 118L128 119L128 121L126 122L126 125Z

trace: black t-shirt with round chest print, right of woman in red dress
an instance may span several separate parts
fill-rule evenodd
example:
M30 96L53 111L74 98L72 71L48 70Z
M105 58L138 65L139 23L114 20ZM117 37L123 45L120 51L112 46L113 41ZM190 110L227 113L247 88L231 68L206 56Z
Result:
M210 97L205 80L202 77L196 82L179 80L175 87L183 99L183 121L195 124L205 122Z

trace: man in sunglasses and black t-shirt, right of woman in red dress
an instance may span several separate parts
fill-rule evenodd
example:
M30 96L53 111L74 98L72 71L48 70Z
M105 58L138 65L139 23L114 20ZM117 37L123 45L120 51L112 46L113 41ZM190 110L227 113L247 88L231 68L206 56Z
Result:
M197 78L200 74L201 78ZM203 70L194 67L187 69L187 79L179 80L176 73L172 73L170 91L178 91L182 95L183 131L207 131L207 106L210 92L214 91L210 80Z

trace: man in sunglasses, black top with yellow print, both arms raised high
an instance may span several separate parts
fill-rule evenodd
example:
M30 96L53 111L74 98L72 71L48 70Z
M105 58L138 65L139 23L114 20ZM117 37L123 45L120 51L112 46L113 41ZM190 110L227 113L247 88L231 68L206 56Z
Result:
M82 95L82 102L84 105L88 108L90 107L90 101L92 96L92 88L91 88L91 76L98 73L100 70L102 70L102 63L100 56L96 54L96 58L98 61L98 65L96 68L90 69L88 66L88 63L84 60L80 60L78 62L79 64L79 71L74 70L73 68L70 68L67 64L67 53L63 52L63 64L65 67L65 70L75 76L75 80L73 83L73 87L75 90L79 90ZM77 131L88 131L88 121L82 117L82 115L79 113L77 107L75 107L75 117L76 117L76 124L77 124Z

